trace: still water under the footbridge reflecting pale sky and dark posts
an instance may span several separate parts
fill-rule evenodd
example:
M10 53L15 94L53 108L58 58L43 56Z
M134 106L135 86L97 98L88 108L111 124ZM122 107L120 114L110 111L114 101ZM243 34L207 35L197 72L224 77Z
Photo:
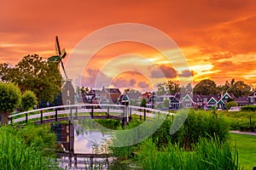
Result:
M88 126L88 123L85 123ZM112 158L104 145L111 134L102 133L93 127L61 122L51 125L57 134L60 150L57 154L60 167L69 169L107 169Z

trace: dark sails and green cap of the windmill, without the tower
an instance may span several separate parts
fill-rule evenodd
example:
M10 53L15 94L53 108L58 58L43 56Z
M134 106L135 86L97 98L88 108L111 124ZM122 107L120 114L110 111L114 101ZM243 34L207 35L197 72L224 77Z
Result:
M64 59L67 55L65 48L61 49L59 39L56 36L56 42L55 42L55 53L56 55L51 56L48 60L52 62L56 62L58 65L61 64L62 71L64 72L65 78L67 80L67 73L64 68L64 64L62 62L62 59Z

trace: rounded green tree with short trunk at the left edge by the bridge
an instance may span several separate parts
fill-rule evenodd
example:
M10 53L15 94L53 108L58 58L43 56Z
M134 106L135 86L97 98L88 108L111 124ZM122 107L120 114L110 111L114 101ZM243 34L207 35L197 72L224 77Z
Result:
M20 88L14 83L0 82L0 112L2 125L8 122L8 116L20 105Z

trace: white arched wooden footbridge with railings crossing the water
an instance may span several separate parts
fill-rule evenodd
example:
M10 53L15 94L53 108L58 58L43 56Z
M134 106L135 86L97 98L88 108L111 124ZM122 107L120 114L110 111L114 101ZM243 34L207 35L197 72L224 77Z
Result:
M150 112L150 113L149 113ZM142 119L153 117L156 113L168 114L134 105L59 105L43 109L20 112L9 116L9 124L22 122L58 122L78 119L115 119L123 123L131 121L131 115L139 115ZM172 113L171 113L172 114Z

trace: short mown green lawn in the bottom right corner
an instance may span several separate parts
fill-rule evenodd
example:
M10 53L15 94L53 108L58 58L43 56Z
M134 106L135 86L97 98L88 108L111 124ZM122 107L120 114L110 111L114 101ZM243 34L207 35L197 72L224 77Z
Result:
M256 136L247 134L230 133L231 146L238 150L239 165L245 170L256 167Z

